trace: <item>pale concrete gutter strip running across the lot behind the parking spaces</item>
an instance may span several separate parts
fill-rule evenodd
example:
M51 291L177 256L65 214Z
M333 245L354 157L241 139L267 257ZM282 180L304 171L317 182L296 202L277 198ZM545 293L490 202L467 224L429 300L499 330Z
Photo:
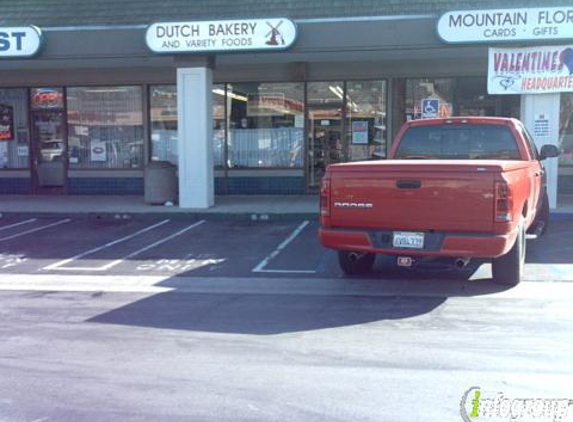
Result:
M204 278L133 275L6 274L2 291L70 291L124 293L191 293L223 295L288 295L344 297L436 297L485 299L536 299L571 301L573 284L524 281L516 287L498 286L488 280L452 282L403 279L362 280L346 278ZM556 294L557 293L557 294Z

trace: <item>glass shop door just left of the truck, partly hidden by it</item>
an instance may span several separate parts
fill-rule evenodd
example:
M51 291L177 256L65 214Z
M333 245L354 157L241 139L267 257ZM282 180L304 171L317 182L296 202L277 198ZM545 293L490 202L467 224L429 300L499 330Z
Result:
M329 164L346 160L342 82L310 82L307 87L307 186L320 188Z

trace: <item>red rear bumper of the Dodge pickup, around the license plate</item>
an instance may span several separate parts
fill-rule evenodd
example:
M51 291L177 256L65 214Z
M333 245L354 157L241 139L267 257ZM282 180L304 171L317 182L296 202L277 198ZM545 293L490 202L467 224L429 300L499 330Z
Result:
M497 258L513 246L517 230L505 235L475 233L427 233L431 242L423 249L394 248L391 231L319 229L320 242L326 248L406 256Z

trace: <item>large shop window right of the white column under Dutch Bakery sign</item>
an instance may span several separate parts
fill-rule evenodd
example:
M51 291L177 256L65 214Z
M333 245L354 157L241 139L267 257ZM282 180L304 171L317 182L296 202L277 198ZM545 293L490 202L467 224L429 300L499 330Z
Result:
M304 85L227 85L228 166L302 167Z

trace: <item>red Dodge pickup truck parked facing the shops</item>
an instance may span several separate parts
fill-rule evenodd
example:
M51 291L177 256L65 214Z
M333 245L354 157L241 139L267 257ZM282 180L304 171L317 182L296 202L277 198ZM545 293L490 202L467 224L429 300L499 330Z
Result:
M526 233L541 235L549 204L538 152L515 119L456 117L411 121L388 160L334 164L320 192L320 241L347 274L368 272L376 254L415 265L447 257L464 267L491 259L497 283L519 283Z

